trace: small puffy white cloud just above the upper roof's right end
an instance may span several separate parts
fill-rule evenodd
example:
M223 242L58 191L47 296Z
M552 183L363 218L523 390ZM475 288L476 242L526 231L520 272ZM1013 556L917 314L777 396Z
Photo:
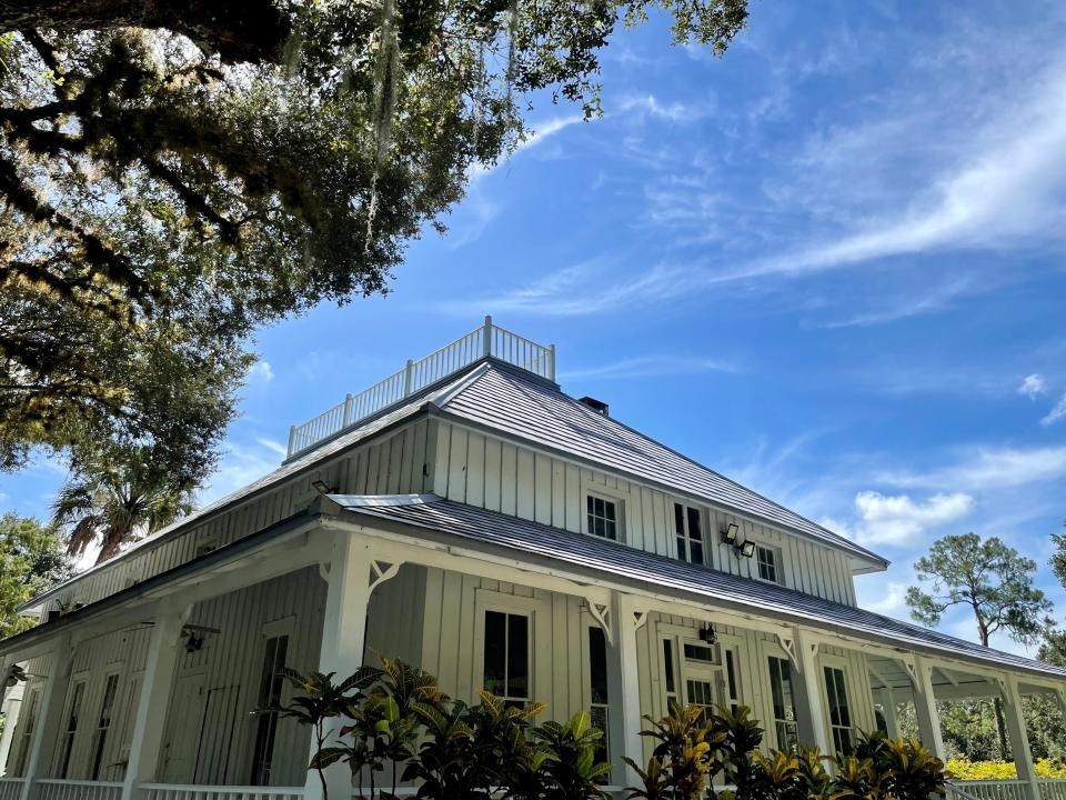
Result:
M929 528L962 519L971 512L969 494L934 494L925 502L915 502L906 494L885 496L862 491L855 496L859 523L855 538L865 544L909 544Z

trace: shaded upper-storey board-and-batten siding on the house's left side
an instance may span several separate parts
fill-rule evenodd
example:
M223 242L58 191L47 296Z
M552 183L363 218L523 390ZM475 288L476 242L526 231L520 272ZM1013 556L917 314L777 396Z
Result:
M420 419L380 438L354 444L313 469L263 489L202 521L194 521L177 536L144 547L87 576L72 584L69 592L53 600L50 608L57 608L59 603L73 607L74 603L95 602L274 524L306 506L316 493L311 486L316 480L344 494L428 491L434 441L429 436L429 421Z

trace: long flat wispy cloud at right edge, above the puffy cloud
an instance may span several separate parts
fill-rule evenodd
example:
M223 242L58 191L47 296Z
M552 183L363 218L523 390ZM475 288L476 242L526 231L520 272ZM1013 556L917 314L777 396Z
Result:
M1066 476L1066 447L974 448L958 463L928 472L886 472L878 482L903 488L1005 489Z

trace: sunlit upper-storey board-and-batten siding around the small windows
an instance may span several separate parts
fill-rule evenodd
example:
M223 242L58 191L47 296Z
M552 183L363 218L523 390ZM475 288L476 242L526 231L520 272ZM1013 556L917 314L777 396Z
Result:
M434 420L430 433L435 433L432 490L449 500L577 533L587 532L585 498L589 494L621 501L624 541L670 558L677 556L673 506L682 502L701 510L708 567L758 577L754 558L738 557L732 547L721 541L718 532L735 522L742 539L780 552L784 586L855 604L849 558L842 551L452 422Z

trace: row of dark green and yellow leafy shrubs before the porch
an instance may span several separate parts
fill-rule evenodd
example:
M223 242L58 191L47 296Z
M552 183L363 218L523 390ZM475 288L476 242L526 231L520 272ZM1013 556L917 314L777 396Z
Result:
M345 763L366 800L392 800L400 783L426 800L602 800L611 764L603 732L581 711L537 724L545 707L516 706L489 692L467 706L445 696L435 677L399 660L333 674L285 677L298 689L271 709L312 727L315 770ZM329 720L345 721L329 741ZM630 766L640 786L630 800L927 800L944 794L944 764L917 740L859 737L854 752L823 756L760 750L763 729L748 709L671 704L641 731L652 743L645 763ZM832 762L833 768L826 769ZM715 789L714 786L730 786ZM344 800L348 800L346 798Z

